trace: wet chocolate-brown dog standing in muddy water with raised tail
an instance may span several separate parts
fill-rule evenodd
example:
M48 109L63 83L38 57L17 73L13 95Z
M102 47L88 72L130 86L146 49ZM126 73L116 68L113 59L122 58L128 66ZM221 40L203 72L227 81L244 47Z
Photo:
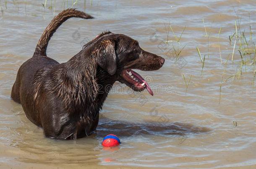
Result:
M104 32L60 64L46 56L46 49L53 33L71 17L92 18L74 9L58 14L44 30L33 57L19 68L11 93L28 119L42 127L46 137L55 139L91 134L115 81L134 91L146 88L153 95L146 81L131 69L154 71L165 62L128 36Z

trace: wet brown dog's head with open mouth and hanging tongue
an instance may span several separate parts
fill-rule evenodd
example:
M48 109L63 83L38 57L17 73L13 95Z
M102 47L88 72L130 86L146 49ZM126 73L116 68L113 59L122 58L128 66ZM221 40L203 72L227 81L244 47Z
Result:
M126 35L111 32L104 32L84 45L84 49L89 47L92 47L92 56L97 64L109 76L115 76L117 81L125 83L134 91L146 88L153 96L144 78L131 69L155 71L163 66L164 58L141 49L138 41Z

